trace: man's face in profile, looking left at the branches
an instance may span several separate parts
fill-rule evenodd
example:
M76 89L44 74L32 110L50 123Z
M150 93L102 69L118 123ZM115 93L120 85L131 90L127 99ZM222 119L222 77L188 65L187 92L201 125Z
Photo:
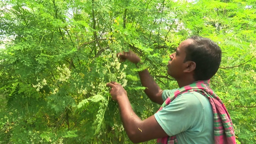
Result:
M191 43L193 43L192 39L186 39L177 47L176 52L170 55L167 73L175 79L179 79L184 75L184 70L187 67L187 64L183 63L186 58L185 49Z

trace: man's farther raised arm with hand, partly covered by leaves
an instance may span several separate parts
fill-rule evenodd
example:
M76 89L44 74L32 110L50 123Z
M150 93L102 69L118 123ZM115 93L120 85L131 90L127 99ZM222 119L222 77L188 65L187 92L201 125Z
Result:
M140 63L140 58L132 51L118 53L118 56L120 57L121 61L125 61L126 59L128 59L130 62L134 64ZM145 93L149 97L149 99L155 103L158 103L159 105L162 105L162 103L164 102L162 100L163 90L161 90L158 84L156 84L152 76L149 74L149 71L147 69L140 71L139 77L142 86L147 88L145 90Z

